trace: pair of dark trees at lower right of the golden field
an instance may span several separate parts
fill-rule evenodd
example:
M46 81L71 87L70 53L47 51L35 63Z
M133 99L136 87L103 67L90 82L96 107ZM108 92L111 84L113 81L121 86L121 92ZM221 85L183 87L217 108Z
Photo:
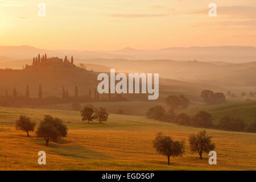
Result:
M170 157L183 156L185 152L185 142L174 141L171 137L168 137L162 133L156 134L153 141L153 147L156 152L167 156L168 165L170 165ZM200 159L203 159L203 153L209 153L215 148L215 144L212 142L212 137L209 137L206 131L201 131L197 134L189 136L189 146L192 153L197 152Z

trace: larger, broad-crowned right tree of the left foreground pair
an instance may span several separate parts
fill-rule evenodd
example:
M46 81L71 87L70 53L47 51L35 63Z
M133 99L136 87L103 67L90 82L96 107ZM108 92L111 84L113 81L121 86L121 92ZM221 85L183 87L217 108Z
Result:
M56 141L61 137L66 137L68 128L59 118L53 118L51 115L45 115L44 121L40 122L36 136L46 140L48 146L49 140Z

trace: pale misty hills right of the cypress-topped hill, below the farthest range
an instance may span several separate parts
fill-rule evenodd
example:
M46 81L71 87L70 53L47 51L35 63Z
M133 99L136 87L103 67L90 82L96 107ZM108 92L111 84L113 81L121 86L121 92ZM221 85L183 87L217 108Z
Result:
M159 73L163 78L219 86L256 86L256 62L216 64L200 61L126 59L77 59L77 62L104 65L115 68L118 72Z

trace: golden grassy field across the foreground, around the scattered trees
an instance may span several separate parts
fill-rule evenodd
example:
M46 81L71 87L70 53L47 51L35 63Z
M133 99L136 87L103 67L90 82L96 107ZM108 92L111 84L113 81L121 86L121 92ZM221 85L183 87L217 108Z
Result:
M68 136L45 146L42 139L16 131L15 120L26 114L39 123L45 114L59 117L68 126ZM1 170L255 170L256 134L207 130L216 143L217 165L207 154L200 160L191 154L189 134L203 129L152 121L145 117L110 114L107 123L82 122L80 113L67 110L0 107ZM175 140L185 140L182 158L167 158L152 148L155 134L162 131ZM46 165L38 164L38 152L46 151Z

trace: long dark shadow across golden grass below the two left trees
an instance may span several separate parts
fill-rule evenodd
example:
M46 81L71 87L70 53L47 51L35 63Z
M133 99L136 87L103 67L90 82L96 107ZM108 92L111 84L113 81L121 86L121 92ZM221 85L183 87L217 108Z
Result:
M45 145L44 140L33 139L35 143ZM52 154L65 156L71 159L112 159L110 156L102 154L101 152L90 150L82 146L59 144L49 142L49 151Z

